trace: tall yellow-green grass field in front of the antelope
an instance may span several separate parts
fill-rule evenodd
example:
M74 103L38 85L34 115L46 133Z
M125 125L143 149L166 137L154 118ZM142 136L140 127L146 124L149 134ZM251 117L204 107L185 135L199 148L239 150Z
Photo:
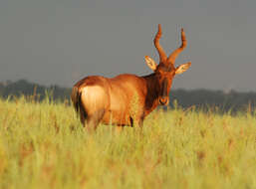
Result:
M155 110L89 134L62 102L0 99L0 188L256 188L256 113Z

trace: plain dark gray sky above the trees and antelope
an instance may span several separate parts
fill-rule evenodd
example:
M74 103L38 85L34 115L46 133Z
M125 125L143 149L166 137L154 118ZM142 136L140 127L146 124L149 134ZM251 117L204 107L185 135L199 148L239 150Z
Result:
M192 62L174 89L256 91L255 0L1 0L0 81L71 87L89 75L146 75L158 60L152 39L162 25L166 53L188 46Z

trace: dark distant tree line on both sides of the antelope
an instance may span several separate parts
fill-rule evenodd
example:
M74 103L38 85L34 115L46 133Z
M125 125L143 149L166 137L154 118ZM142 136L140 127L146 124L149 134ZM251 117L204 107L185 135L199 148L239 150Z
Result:
M0 96L2 98L9 97L13 99L21 95L29 96L34 100L43 100L46 96L53 100L65 99L69 101L71 89L59 86L45 87L42 85L30 83L26 80L17 82L0 83ZM248 108L255 109L256 93L238 93L230 91L224 93L222 91L209 90L172 90L170 92L170 106L176 103L183 108L209 108L214 107L222 111L237 111ZM176 101L173 103L173 101Z

